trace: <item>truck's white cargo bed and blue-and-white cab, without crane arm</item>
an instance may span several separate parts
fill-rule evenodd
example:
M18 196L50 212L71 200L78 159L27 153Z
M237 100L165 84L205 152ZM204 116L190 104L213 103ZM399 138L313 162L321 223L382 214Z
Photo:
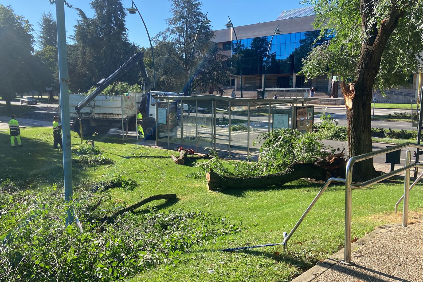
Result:
M150 91L147 94L140 92L129 92L129 96L135 96L137 109L143 115L143 130L145 138L153 140L156 137L156 99L161 96L178 96L173 92ZM112 128L122 127L122 96L97 95L78 113L75 107L85 99L86 96L80 94L69 95L69 114L74 122L74 131L80 134L81 122L82 136L91 136L94 133L105 134ZM126 96L123 96L126 97ZM176 102L170 102L170 107L175 107ZM130 129L135 131L135 117L125 116L125 122L128 122ZM176 127L169 129L170 136L176 136ZM159 136L162 137L162 136ZM167 137L167 133L166 133Z

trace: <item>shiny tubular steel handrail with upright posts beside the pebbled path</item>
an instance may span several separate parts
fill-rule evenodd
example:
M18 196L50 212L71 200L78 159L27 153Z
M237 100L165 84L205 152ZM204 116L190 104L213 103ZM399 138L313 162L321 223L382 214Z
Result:
M405 166L401 169L394 170L393 172L389 172L385 175L378 176L371 180L365 181L360 184L352 185L352 169L356 162L361 162L366 159L374 158L375 156L384 155L386 153L390 153L393 151L401 150L401 148L418 148L423 149L423 145L415 144L411 142L407 142L401 145L392 146L389 148L385 148L382 150L366 153L359 156L354 156L348 160L346 164L346 172L345 172L345 247L344 247L344 260L343 263L346 265L352 265L351 262L351 222L352 222L352 189L361 189L372 185L374 183L380 182L385 180L399 172L405 171L404 175L404 209L403 209L403 219L402 225L407 227L407 219L408 219L408 196L409 196L409 184L410 184L410 169L413 167L423 167L423 164L413 163L410 164L411 160L411 151L407 150L406 152L406 161Z

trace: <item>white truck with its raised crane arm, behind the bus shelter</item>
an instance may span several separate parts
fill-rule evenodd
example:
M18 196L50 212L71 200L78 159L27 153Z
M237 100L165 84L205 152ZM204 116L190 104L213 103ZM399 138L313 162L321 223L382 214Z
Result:
M122 127L122 96L100 95L100 93L102 93L104 88L106 88L108 85L111 85L118 77L124 74L124 72L135 65L138 66L138 69L144 78L145 89L150 89L152 84L148 78L143 58L144 53L141 51L137 52L122 66L120 66L113 74L110 74L109 77L100 80L96 85L96 89L88 96L82 96L79 94L69 95L69 110L70 117L74 122L74 131L80 134L80 123L82 135L87 137L93 135L95 132L98 134L104 134L112 128ZM141 126L143 126L146 139L155 139L156 100L154 97L178 96L178 94L173 92L150 91L147 94L130 92L128 95L135 96L137 109L139 109L143 115L143 123ZM180 108L178 109L176 102L169 102L169 106L170 109L168 109L168 111L176 112L175 118L177 120L178 116L180 116ZM133 117L124 117L126 118L128 126L131 127L131 129L136 130L135 115ZM176 123L168 122L170 136L176 136ZM166 130L166 137L167 136L168 130ZM159 137L162 137L161 131L159 133Z

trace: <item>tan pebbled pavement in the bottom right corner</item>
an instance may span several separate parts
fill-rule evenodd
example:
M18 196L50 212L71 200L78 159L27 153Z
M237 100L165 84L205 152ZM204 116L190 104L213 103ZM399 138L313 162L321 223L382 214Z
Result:
M423 282L423 222L394 226L336 263L313 282ZM299 278L299 277L298 277Z

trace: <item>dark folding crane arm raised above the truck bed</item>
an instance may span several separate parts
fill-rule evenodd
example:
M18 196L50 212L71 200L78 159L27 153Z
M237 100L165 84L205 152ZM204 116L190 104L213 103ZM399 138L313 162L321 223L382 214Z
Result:
M146 66L144 65L144 52L139 51L136 54L134 54L132 57L129 58L122 66L120 66L113 74L110 74L109 77L103 78L97 83L97 88L91 92L85 99L83 99L77 106L75 107L75 111L78 113L79 116L81 116L80 111L88 105L97 95L102 93L102 91L112 84L118 77L120 77L122 74L124 74L126 71L129 70L132 66L137 64L144 81L146 82L146 89L147 87L150 87L151 81L148 77L148 74L146 72Z

